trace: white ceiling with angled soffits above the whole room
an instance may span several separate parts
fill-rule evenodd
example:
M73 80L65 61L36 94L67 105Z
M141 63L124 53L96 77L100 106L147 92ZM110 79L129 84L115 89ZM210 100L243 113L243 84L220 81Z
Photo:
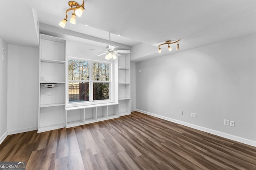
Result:
M76 17L79 24L67 22L63 29L58 23L65 17L68 1L5 1L0 6L0 37L9 44L38 47L33 8L42 32L90 43L95 49L108 44L111 32L111 41L121 49L138 43L156 49L145 52L143 60L176 52L157 53L157 46L166 40L181 39L183 51L256 32L255 0L85 0L84 14Z

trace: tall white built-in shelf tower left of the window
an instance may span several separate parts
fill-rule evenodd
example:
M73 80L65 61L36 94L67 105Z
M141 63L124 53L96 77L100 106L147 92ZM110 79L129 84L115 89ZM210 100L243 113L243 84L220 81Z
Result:
M65 127L65 63L66 40L40 34L38 133Z

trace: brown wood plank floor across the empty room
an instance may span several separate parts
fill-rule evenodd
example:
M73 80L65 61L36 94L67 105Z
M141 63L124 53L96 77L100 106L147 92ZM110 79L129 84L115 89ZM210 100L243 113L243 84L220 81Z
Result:
M26 169L256 169L256 148L139 112L117 119L8 135L0 161Z

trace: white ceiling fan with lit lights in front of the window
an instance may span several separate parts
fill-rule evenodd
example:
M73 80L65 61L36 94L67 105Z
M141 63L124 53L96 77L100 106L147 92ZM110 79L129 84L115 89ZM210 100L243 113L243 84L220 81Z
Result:
M117 59L115 53L131 53L130 50L115 50L115 48L116 47L114 45L111 45L110 33L109 33L109 45L107 45L105 50L97 50L97 51L104 51L104 53L97 55L97 56L106 54L106 57L105 57L106 60L109 60L112 58L113 58L113 60L115 60L115 59ZM94 49L92 49L92 50L94 50Z

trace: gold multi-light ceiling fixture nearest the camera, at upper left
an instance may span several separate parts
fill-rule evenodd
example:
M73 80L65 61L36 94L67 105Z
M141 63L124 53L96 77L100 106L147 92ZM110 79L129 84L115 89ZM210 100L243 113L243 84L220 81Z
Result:
M67 12L70 10L73 10L72 16L70 18L70 23L72 24L76 24L76 16L80 17L82 16L85 8L84 8L84 0L82 5L79 5L77 2L75 1L69 1L68 2L68 6L70 6L71 8L68 8L66 10L66 18L64 18L62 21L60 21L59 25L64 28L66 26L66 23L68 21L68 14Z

